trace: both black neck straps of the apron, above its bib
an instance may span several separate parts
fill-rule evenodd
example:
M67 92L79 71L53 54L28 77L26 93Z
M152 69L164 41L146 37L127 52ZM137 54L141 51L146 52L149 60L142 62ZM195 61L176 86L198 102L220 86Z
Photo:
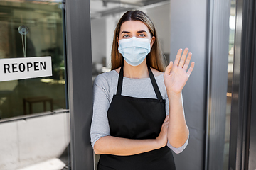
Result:
M157 97L157 99L161 100L162 96L161 96L161 93L159 91L159 87L156 84L156 79L154 78L154 74L152 73L151 68L149 66L147 66L147 67L148 67L148 71L149 71L149 77L150 77L150 80L151 80L151 84L153 85L154 91L156 93L156 97ZM118 84L117 84L117 95L122 94L123 78L124 78L124 66L121 67L120 72L119 72Z

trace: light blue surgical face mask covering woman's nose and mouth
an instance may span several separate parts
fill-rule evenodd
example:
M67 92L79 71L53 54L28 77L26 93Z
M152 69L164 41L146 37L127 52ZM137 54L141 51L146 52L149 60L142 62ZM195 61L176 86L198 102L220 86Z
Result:
M129 39L119 40L118 51L124 57L124 60L132 65L138 66L150 52L151 40L146 38L132 37Z

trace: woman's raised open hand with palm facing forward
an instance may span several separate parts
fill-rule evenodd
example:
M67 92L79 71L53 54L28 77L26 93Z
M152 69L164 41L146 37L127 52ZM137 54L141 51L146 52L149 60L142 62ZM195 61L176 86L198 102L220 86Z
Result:
M184 50L182 57L181 53L182 49L179 49L174 63L170 62L170 64L166 67L166 71L164 72L164 84L169 93L181 93L181 90L185 86L186 81L188 81L188 77L193 71L193 67L195 65L195 62L192 62L191 67L188 69L192 56L191 52L188 53L188 48ZM187 54L188 57L186 58Z

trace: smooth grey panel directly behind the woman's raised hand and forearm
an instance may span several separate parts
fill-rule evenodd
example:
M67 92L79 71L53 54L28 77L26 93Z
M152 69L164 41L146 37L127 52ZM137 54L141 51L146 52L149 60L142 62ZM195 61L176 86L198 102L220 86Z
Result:
M190 130L188 147L175 154L177 169L203 169L206 122L206 0L171 0L171 60L179 48L189 48L196 63L183 89L186 122Z

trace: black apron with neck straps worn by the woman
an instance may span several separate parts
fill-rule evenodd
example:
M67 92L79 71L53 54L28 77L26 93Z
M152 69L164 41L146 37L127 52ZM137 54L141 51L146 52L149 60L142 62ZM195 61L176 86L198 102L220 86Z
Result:
M156 98L134 98L122 96L124 69L119 72L117 94L113 96L107 118L110 135L128 139L156 139L166 118L165 100L156 84L156 79L148 66L149 77ZM142 154L117 156L101 154L98 170L174 170L174 157L169 147L161 147Z

